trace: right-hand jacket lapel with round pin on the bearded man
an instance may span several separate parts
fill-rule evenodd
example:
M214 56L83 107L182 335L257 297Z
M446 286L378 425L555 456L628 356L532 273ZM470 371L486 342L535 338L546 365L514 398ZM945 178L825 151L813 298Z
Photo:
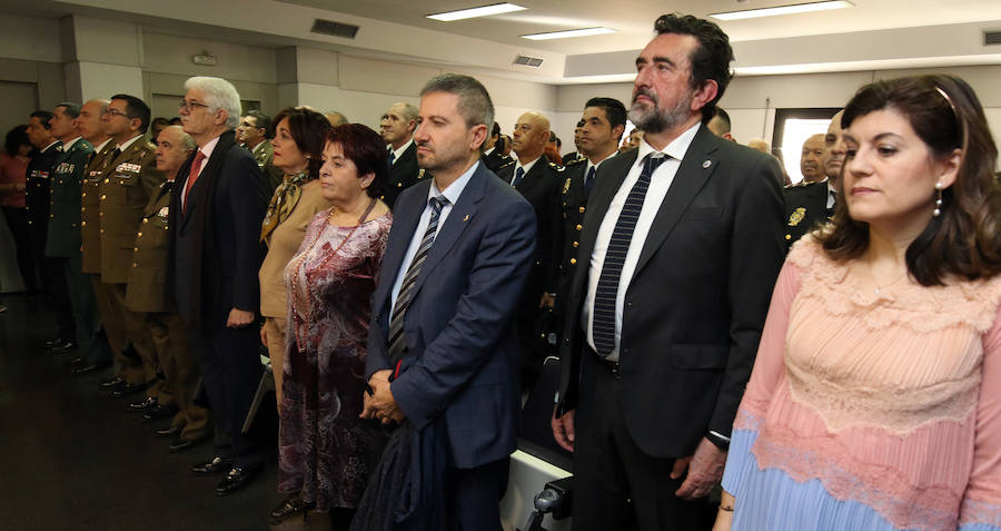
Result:
M708 180L713 171L716 170L716 159L713 154L716 147L713 145L712 132L705 127L700 127L698 132L692 140L688 151L685 154L684 160L674 175L674 181L667 189L664 203L657 209L650 233L646 235L646 242L643 244L643 250L640 253L640 262L633 272L633 277L643 269L643 266L650 262L653 254L661 247L671 230L677 225L682 214L688 208L692 199L698 194L703 185Z

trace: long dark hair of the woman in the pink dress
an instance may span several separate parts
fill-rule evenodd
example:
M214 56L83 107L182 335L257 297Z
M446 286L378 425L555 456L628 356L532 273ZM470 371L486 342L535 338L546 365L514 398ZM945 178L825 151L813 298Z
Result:
M941 215L932 218L906 250L908 271L923 286L949 277L990 278L1001 272L1001 188L994 179L998 148L973 89L943 75L882 80L855 92L841 127L870 112L894 109L928 145L932 156L961 150L955 181L942 190ZM845 171L848 163L843 165ZM839 179L839 187L844 186ZM842 197L843 190L842 190ZM869 224L853 220L839 201L833 227L821 234L827 256L858 258L869 247Z

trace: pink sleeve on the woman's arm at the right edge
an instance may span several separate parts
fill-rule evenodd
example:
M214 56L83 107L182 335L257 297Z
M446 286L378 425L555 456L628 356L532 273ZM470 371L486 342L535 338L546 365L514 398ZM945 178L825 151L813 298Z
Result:
M961 530L1001 529L1001 308L983 336L973 470L963 495Z

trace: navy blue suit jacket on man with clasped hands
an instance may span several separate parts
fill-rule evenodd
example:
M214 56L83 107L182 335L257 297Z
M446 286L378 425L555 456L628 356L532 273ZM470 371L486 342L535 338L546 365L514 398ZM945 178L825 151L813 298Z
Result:
M404 318L407 356L416 363L390 390L422 429L444 415L455 465L509 455L519 419L514 313L535 249L535 213L483 164L469 179L417 278ZM393 284L427 204L430 179L400 194L373 295L366 377L390 368Z

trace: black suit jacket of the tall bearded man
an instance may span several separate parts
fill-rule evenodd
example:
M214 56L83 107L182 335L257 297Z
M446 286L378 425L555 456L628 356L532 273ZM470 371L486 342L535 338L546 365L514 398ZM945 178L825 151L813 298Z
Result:
M561 345L559 413L588 392L578 389L582 356L596 355L581 326L588 263L636 157L602 164L588 198ZM708 431L731 433L784 256L780 171L774 158L701 127L657 212L625 293L620 344L622 415L650 455L691 455Z

